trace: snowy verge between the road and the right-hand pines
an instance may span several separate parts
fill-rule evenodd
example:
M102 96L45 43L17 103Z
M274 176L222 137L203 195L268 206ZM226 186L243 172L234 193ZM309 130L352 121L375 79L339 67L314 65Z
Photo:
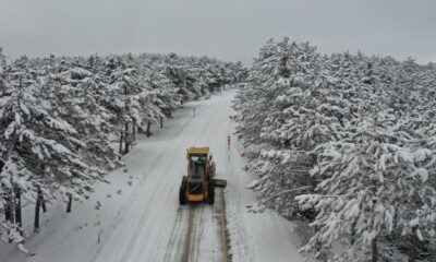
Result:
M234 132L234 122L229 124L229 133ZM298 249L300 245L296 226L277 213L266 210L264 213L249 213L246 204L256 201L256 193L247 189L254 178L244 170L245 159L241 156L241 141L232 140L228 152L228 188L226 207L230 252L233 261L312 261Z

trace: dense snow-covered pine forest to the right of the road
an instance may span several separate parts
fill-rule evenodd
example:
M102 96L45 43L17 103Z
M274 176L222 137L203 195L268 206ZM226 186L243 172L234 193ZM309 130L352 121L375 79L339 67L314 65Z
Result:
M320 261L436 261L436 64L267 41L234 103L270 207Z

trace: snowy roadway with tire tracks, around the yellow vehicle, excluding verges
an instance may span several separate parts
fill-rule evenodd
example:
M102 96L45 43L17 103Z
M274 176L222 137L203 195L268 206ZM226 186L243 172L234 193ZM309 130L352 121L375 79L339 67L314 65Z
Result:
M189 240L189 252L184 252L189 254L186 255L189 260L218 261L218 259L216 259L216 252L219 252L219 255L220 249L216 248L216 242L219 242L220 238L214 234L218 230L216 229L217 225L215 222L213 221L213 223L210 223L210 219L213 219L210 217L214 215L210 206L204 203L204 206L201 206L202 209L192 209L192 206L182 209L180 218L173 218L178 217L175 199L178 195L177 189L181 179L179 170L183 172L185 170L185 165L181 164L184 157L181 156L180 153L184 152L184 148L189 146L209 145L214 150L213 145L217 144L217 135L221 135L220 132L217 132L218 129L210 129L210 127L216 126L217 121L222 121L220 118L220 115L222 115L222 103L218 103L214 106L205 104L201 105L201 114L195 118L187 119L186 122L179 127L180 130L167 138L167 140L171 142L168 142L167 145L162 144L165 148L156 147L159 148L159 156L161 157L155 158L156 160L152 164L154 168L149 166L143 167L147 170L148 176L144 184L135 189L135 199L129 203L129 207L125 213L122 214L123 218L119 221L120 224L124 225L114 228L114 233L111 234L112 240L107 242L100 251L94 255L96 260L101 260L105 257L100 257L99 253L108 251L114 261L155 260L160 262L165 257L167 257L169 261L180 261L180 258L183 257L186 240ZM227 118L227 116L223 117ZM145 146L145 144L142 146ZM220 147L217 146L217 150L218 148ZM141 154L143 155L144 152ZM165 157L165 159L162 157ZM172 159L174 159L173 164L171 164ZM138 170L136 170L136 172ZM174 211L168 211L168 209L174 209ZM167 211L161 212L161 210ZM190 211L192 212L191 230L187 229L190 225ZM162 214L166 215L166 217L159 221L159 216ZM171 214L172 218L168 217L169 214ZM204 216L204 214L207 214L207 216ZM206 219L206 217L210 219ZM156 224L155 222L160 223ZM171 233L171 226L175 227L173 234ZM210 228L205 229L204 227ZM203 229L197 230L201 228ZM210 236L205 236L205 231L206 235L210 234ZM186 237L186 234L189 237ZM202 245L203 237L213 245L210 245L210 247ZM173 240L171 240L171 238ZM120 239L123 241L119 241ZM159 245L164 242L168 245L166 246L168 250L160 252ZM210 259L202 260L202 257L204 257L202 252L205 252ZM169 254L167 255L167 253Z

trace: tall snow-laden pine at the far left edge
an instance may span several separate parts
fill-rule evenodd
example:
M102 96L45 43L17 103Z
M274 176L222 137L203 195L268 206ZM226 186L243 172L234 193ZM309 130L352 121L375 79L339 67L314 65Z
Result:
M32 200L35 186L53 182L45 179L40 162L53 153L68 154L61 144L46 134L50 129L65 131L70 127L52 118L44 108L47 104L39 104L41 100L33 95L39 83L27 58L23 57L10 66L7 79L10 84L3 91L0 102L0 142L3 151L1 188L7 221L20 227L14 216L20 216L17 224L21 224L21 210L15 209L20 206L15 206L14 199L20 196ZM21 199L17 203L21 203Z

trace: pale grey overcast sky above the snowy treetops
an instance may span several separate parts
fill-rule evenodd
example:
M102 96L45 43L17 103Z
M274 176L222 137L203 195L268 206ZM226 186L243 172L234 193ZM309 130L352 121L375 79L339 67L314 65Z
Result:
M270 37L436 62L434 0L0 0L16 58L170 52L249 64Z

